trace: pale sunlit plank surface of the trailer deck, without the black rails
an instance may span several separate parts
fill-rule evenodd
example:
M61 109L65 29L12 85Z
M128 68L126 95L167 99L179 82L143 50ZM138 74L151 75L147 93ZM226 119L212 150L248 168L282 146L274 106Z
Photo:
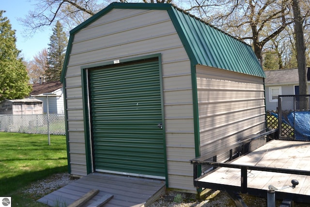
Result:
M262 147L230 162L234 165L259 166L279 169L292 169L310 172L310 142L273 140ZM292 179L299 181L295 188L286 188L276 193L294 198L304 197L310 199L310 176L294 175L277 172L247 170L248 189L267 191L269 185L281 189L283 186L292 186ZM240 169L218 167L211 174L197 178L204 187L230 187L241 186ZM285 194L286 193L286 194ZM297 199L298 200L298 199Z

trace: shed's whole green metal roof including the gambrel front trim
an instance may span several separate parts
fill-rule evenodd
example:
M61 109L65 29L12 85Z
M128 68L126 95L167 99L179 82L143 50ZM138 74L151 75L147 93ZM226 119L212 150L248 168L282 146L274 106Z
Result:
M201 64L265 78L263 68L251 46L197 17L187 14L172 4L114 2L70 31L69 44L62 69L62 82L64 81L74 34L115 8L167 10L192 65Z

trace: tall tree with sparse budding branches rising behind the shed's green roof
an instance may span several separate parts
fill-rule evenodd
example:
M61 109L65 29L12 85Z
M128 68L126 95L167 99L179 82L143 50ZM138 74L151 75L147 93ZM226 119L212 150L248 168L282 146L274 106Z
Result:
M288 0L202 0L201 4L207 21L248 41L261 61L264 45L293 22L287 18Z

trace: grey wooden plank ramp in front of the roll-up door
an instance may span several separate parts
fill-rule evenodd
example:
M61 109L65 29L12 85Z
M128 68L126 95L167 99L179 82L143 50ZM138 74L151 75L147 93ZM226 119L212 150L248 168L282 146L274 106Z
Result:
M54 191L38 202L51 207L66 207L93 190L99 190L82 207L100 204L109 197L104 207L143 207L165 194L165 181L121 175L90 174Z

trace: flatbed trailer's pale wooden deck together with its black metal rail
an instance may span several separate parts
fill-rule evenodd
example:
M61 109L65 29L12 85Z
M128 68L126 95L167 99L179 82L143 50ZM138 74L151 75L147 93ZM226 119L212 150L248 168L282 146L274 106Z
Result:
M273 140L262 147L229 163L192 160L194 165L217 167L216 171L194 180L197 187L242 191L264 196L268 186L277 189L279 199L289 198L297 202L310 202L310 142ZM197 166L196 166L197 167Z

